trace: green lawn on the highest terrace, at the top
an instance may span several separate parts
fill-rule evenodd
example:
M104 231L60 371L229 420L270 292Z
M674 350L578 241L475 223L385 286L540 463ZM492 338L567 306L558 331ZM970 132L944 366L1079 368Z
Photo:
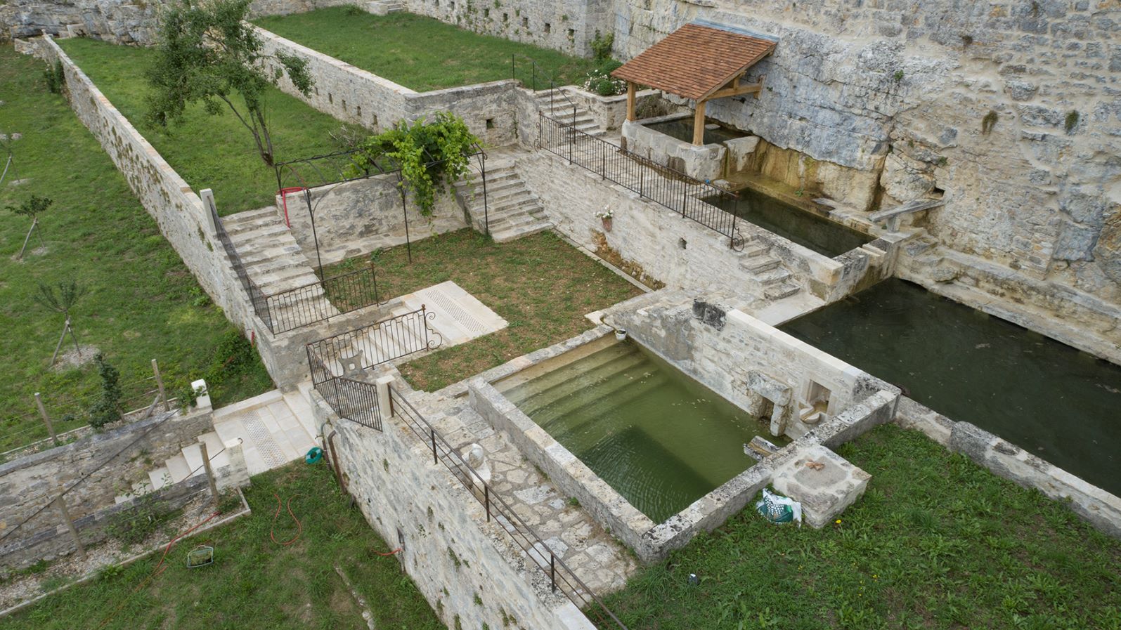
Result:
M479 19L484 19L481 9ZM501 12L492 8L491 19L500 20ZM510 19L512 29L517 18L511 15ZM527 57L552 74L558 85L581 82L597 65L592 59L405 12L374 16L351 7L332 7L260 18L253 24L417 92L510 78L511 55L518 56L519 68L525 65L526 76L520 70L518 74L527 82Z

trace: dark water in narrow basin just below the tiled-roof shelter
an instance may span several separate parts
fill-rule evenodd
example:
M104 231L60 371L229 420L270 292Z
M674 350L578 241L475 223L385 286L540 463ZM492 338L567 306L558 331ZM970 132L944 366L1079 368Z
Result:
M740 219L830 258L872 240L863 232L750 188L740 191L739 202L724 195L704 201L728 212L736 212Z

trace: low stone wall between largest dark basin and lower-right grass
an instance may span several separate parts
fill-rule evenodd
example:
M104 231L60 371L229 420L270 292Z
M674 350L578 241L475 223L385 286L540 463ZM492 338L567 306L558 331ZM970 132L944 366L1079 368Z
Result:
M1097 529L1121 538L1121 498L982 428L954 421L909 398L900 397L896 423L921 430L935 442L955 453L965 454L999 476L1062 501Z

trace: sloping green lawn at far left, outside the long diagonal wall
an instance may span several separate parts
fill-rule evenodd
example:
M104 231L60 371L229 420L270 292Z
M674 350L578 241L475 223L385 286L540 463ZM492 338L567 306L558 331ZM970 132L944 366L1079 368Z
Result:
M18 205L30 194L54 200L28 248L39 247L41 235L46 251L29 252L22 261L13 257L30 222L0 210L0 355L4 360L0 451L46 436L34 392L43 392L55 420L67 411L78 416L59 423L61 432L86 423L82 413L100 390L92 365L63 371L48 367L63 316L35 302L39 282L73 279L89 290L73 309L78 337L105 353L120 370L122 383L151 376L150 361L157 359L169 386L207 372L212 380L224 378L213 392L217 405L271 389L256 355L223 367L229 355L244 350L240 334L207 304L156 222L65 99L47 91L44 67L38 59L16 54L10 45L0 46L0 133L22 136L11 142L15 175L29 180L12 186L9 173L0 187L0 209ZM0 154L3 160L6 151ZM145 383L139 390L151 387ZM127 387L126 393L136 390ZM70 399L77 401L66 402Z

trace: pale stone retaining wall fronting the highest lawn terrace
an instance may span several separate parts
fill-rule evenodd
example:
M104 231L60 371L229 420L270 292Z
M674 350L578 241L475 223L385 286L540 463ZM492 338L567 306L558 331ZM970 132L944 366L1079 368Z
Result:
M307 70L315 78L315 87L307 96L287 76L280 80L280 90L340 120L380 131L400 120L452 111L463 118L472 133L490 145L509 145L515 140L511 101L517 84L513 81L416 92L262 28L256 30L266 53L281 52L307 59Z

